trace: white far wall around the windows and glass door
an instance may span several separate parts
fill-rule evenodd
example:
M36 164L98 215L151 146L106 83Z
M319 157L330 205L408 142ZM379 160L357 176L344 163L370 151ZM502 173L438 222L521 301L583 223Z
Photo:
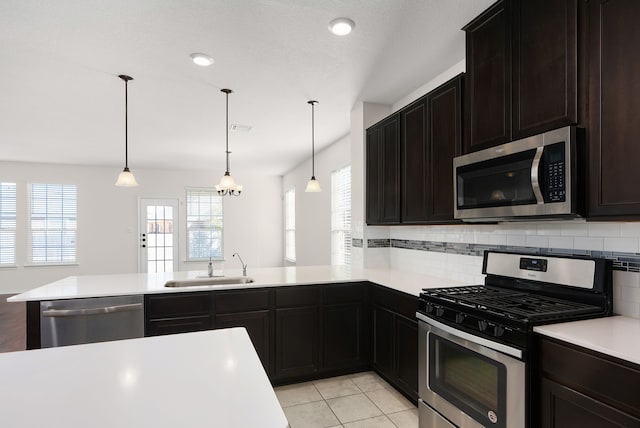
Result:
M137 272L138 199L173 198L180 202L180 270L204 270L206 263L186 259L186 187L213 187L223 171L134 169L139 187L113 185L118 168L0 162L0 181L17 184L16 268L0 269L0 294L22 292L71 276ZM239 268L239 252L251 267L282 265L282 178L235 177L244 185L239 197L224 200L224 253L227 268ZM28 255L28 183L78 186L78 265L25 266Z

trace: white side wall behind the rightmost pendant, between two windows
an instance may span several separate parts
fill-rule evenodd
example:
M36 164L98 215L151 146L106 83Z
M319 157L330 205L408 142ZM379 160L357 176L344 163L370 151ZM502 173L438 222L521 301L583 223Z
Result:
M347 135L315 155L315 176L320 193L305 193L311 177L311 158L283 177L282 192L296 189L296 265L331 264L331 172L349 165Z

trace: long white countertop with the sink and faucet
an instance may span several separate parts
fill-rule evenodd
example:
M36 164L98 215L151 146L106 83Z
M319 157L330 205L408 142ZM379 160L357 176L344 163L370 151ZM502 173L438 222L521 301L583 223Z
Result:
M224 271L224 276L241 276L239 270ZM177 293L191 291L225 290L236 288L308 285L353 281L371 281L395 290L418 296L422 288L467 285L452 279L433 275L402 272L392 269L351 269L338 266L304 266L249 269L250 284L214 286L165 287L168 281L198 279L203 271L184 271L160 274L118 274L70 276L51 284L29 290L7 299L26 302L85 297L124 296L132 294ZM444 275L443 275L444 276Z

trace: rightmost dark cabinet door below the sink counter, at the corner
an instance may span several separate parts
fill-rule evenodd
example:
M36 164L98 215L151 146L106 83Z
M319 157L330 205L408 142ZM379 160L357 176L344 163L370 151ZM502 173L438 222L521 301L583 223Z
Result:
M362 304L325 306L322 314L323 369L366 364Z

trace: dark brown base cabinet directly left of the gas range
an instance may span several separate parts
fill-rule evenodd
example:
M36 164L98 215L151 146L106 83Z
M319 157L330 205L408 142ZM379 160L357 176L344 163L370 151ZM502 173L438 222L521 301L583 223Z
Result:
M412 402L418 399L418 298L371 286L373 369Z

